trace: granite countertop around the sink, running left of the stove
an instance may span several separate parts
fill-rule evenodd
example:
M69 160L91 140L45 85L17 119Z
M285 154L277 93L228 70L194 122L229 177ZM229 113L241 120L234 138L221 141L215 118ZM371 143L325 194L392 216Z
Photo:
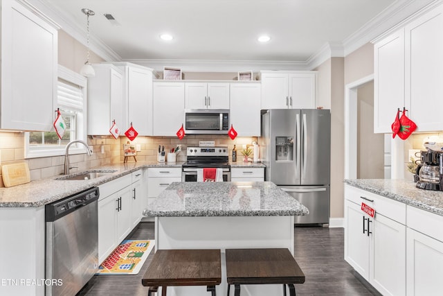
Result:
M72 195L84 189L89 189L93 186L109 182L111 180L122 177L137 171L140 168L162 168L162 167L177 167L181 168L183 162L129 162L126 164L112 164L109 166L100 166L100 168L91 168L100 171L114 171L106 174L103 177L98 177L92 180L55 180L57 177L63 175L39 179L31 181L27 184L12 186L9 188L0 188L0 208L1 207L42 207L45 204L55 202L66 196ZM81 172L79 172L81 173ZM71 175L74 175L72 173Z

